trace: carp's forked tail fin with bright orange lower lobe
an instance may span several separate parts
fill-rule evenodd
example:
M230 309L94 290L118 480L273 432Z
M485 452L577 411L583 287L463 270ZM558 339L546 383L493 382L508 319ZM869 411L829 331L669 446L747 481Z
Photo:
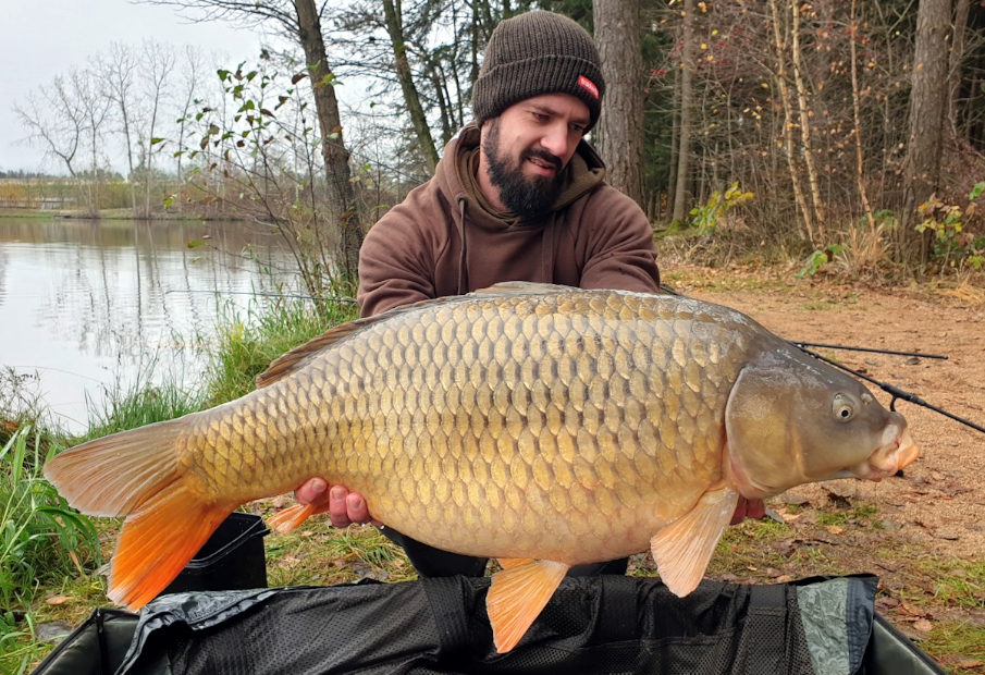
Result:
M109 597L132 610L162 591L236 504L207 504L178 458L175 419L96 439L45 465L45 477L83 513L126 516Z

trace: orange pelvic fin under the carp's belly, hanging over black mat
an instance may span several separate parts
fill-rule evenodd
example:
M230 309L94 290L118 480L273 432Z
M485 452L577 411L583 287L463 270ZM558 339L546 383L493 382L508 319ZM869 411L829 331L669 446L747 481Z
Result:
M553 561L519 562L494 574L485 596L493 643L501 654L520 641L569 568Z

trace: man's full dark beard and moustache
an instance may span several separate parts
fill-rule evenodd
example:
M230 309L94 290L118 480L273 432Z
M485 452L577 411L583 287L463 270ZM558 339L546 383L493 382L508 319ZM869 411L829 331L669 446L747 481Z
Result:
M507 157L500 157L500 119L489 123L482 151L489 163L489 180L500 191L500 200L507 209L524 220L533 220L551 212L557 195L561 194L561 160L542 149L525 150L517 165ZM524 175L522 165L527 159L535 157L554 167L553 176Z

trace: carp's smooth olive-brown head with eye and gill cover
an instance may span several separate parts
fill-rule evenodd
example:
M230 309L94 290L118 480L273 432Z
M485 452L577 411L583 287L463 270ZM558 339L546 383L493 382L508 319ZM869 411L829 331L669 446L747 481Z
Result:
M792 346L761 352L725 408L731 471L746 496L860 475L906 426L858 381Z

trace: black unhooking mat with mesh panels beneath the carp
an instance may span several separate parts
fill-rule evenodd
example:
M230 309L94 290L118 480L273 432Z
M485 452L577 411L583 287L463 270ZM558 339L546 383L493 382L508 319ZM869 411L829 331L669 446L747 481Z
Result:
M876 578L748 586L565 579L507 654L488 578L162 596L138 615L97 610L35 671L109 673L943 673L875 614Z

